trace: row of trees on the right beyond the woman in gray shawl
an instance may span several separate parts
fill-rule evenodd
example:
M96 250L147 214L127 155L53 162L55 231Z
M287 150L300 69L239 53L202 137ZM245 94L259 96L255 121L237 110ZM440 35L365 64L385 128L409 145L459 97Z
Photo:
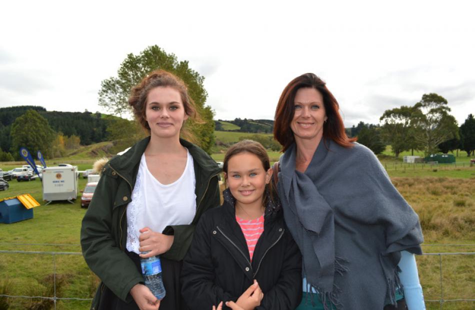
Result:
M401 106L384 111L381 125L358 123L350 129L351 136L375 154L390 145L395 157L401 152L423 150L424 154L464 150L467 156L475 152L475 119L469 114L457 125L449 114L448 102L436 93L422 95L413 106Z

